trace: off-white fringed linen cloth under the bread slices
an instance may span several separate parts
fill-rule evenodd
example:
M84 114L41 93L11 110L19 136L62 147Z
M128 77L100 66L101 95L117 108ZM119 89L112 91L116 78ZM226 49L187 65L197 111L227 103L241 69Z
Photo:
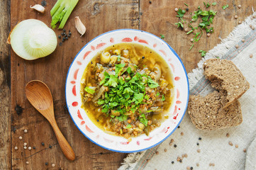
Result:
M253 15L256 16L256 13ZM128 154L119 168L120 170L176 170L187 169L188 166L192 166L193 169L245 169L247 153L244 152L244 149L248 149L256 136L256 30L252 30L250 27L255 26L256 28L256 19L252 16L234 28L221 44L207 52L199 62L198 68L188 74L190 94L206 96L214 89L204 78L202 69L204 61L210 58L232 60L250 83L250 89L239 99L243 123L223 130L198 130L186 113L180 128L177 128L165 142L144 152ZM239 45L238 48L235 45ZM250 57L250 54L253 57ZM182 132L184 135L181 135ZM227 133L229 137L227 137ZM169 145L172 139L174 142ZM230 142L233 146L230 145ZM155 154L156 152L157 154ZM182 157L182 154L187 154L188 157L184 157L182 162L177 162L177 157ZM172 164L172 162L174 163ZM254 162L250 162L250 167L253 167L252 164L256 164L256 159Z

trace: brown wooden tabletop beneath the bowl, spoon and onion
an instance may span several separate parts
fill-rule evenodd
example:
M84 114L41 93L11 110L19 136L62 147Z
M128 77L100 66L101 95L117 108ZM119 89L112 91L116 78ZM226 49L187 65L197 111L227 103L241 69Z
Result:
M189 7L184 5L186 2ZM79 50L92 38L108 30L118 28L134 28L146 30L160 36L171 45L181 57L187 72L196 67L201 60L199 50L211 50L226 38L231 30L256 9L254 0L216 0L211 6L217 12L213 21L215 33L211 37L202 35L192 50L190 39L184 30L177 29L174 23L178 18L174 8L189 8L189 12L197 6L204 6L203 0L80 0L65 26L72 31L72 38L57 47L52 55L26 61L16 56L6 39L10 29L28 18L37 18L50 25L50 9L55 1L47 1L46 13L41 14L29 8L40 4L41 0L4 0L0 1L0 169L117 169L126 154L111 152L90 142L72 122L65 103L65 79L69 64ZM213 1L211 1L213 2ZM242 3L243 2L243 3ZM221 6L228 4L223 10ZM241 4L242 8L238 8ZM204 7L205 8L205 7ZM238 15L238 19L234 18ZM79 16L87 27L87 33L80 38L74 28L74 16ZM185 19L191 16L186 14ZM61 30L55 29L60 35ZM32 79L40 79L50 87L55 104L55 117L60 130L74 148L76 160L69 162L62 154L49 123L28 103L24 87ZM11 89L11 90L10 90ZM24 133L23 130L28 130ZM23 137L19 140L18 137ZM23 143L35 147L29 151L23 149ZM44 142L44 146L41 145ZM52 148L49 148L49 145ZM17 146L18 150L14 147ZM29 164L26 164L29 162ZM48 162L48 165L45 163ZM55 164L52 168L51 164Z

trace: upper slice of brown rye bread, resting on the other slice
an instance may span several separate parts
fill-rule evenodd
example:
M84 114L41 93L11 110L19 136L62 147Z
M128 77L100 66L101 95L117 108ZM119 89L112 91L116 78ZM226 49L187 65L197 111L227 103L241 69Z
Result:
M204 62L204 75L206 79L211 81L213 88L218 91L223 90L223 109L238 100L250 88L248 81L230 60L206 60Z

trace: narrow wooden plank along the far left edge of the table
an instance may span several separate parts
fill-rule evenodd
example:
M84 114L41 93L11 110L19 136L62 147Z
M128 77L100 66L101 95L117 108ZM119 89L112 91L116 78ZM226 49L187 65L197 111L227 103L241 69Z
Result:
M9 1L0 1L0 169L11 169Z

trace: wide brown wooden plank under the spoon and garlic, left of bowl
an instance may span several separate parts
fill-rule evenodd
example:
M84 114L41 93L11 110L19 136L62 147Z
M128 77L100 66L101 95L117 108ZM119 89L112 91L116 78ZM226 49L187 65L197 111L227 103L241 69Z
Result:
M37 1L40 4L40 1ZM29 8L35 1L11 1L11 28L28 18L37 18L50 25L50 9L55 1L47 1L45 14ZM47 169L55 164L55 169L117 169L126 154L111 152L90 142L72 122L65 103L65 80L67 70L75 55L92 38L108 30L118 28L138 29L138 1L79 1L69 16L65 29L71 30L72 37L57 47L52 55L26 61L11 51L11 115L12 125L12 167L13 169ZM87 27L87 33L80 38L74 27L74 17L79 16ZM136 19L137 18L137 19ZM60 35L61 30L55 30ZM63 135L76 153L74 162L69 162L62 154L52 128L45 118L30 105L25 95L28 81L39 79L48 84L52 91L55 118ZM23 108L17 113L16 106ZM23 130L28 132L24 133ZM18 140L22 136L23 140ZM23 149L23 142L36 149ZM41 145L44 142L44 146ZM49 145L52 148L49 148ZM26 164L29 162L29 164ZM48 162L48 166L45 165Z

